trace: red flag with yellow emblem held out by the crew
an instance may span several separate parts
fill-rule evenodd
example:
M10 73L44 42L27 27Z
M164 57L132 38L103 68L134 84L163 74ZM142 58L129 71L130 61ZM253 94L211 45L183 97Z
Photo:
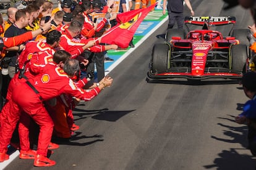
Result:
M153 4L145 9L130 10L129 12L118 14L116 17L117 25L101 36L101 42L127 48L140 23L142 23L148 12L155 5Z

